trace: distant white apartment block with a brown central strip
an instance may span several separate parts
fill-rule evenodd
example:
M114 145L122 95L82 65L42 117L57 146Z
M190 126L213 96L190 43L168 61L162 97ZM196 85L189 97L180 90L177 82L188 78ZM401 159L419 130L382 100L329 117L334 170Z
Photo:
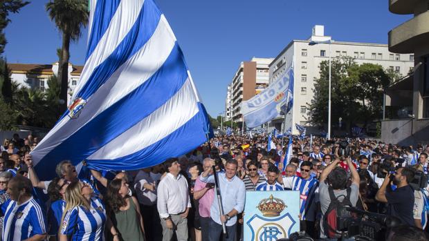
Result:
M271 61L273 58L253 57L250 61L240 63L231 84L228 85L226 117L232 117L235 122L243 121L241 102L261 93L268 86L268 64Z

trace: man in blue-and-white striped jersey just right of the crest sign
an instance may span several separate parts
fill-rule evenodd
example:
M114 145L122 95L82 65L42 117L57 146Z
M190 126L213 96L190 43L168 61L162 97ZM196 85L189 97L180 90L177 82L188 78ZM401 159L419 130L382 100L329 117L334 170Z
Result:
M304 161L301 164L301 177L283 177L284 189L300 192L300 226L314 237L314 221L316 220L316 202L318 202L319 182L311 177L311 162Z

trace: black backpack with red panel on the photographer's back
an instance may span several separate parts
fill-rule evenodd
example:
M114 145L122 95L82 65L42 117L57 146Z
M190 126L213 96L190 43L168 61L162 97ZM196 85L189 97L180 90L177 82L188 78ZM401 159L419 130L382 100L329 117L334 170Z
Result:
M323 215L323 230L328 238L341 238L342 232L347 230L347 220L352 217L347 207L352 207L350 202L350 193L352 189L347 188L347 196L343 196L344 200L339 201L338 197L334 195L334 189L328 188L329 198L331 203L328 206L325 215Z

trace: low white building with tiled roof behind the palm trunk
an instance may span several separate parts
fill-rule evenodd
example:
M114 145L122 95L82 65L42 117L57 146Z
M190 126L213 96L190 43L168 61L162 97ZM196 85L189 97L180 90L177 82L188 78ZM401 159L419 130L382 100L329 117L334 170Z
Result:
M8 64L10 78L20 86L45 91L48 88L48 79L58 73L58 63L54 64ZM71 102L73 90L77 86L84 66L69 64L69 91L68 102Z

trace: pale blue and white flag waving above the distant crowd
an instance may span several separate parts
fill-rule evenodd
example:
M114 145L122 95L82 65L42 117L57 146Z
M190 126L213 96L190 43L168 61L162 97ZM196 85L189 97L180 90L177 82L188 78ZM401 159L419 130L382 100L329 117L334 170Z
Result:
M292 65L291 65L292 66ZM260 126L274 119L282 109L289 111L293 104L293 68L289 66L284 75L262 93L241 102L241 113L248 128Z

